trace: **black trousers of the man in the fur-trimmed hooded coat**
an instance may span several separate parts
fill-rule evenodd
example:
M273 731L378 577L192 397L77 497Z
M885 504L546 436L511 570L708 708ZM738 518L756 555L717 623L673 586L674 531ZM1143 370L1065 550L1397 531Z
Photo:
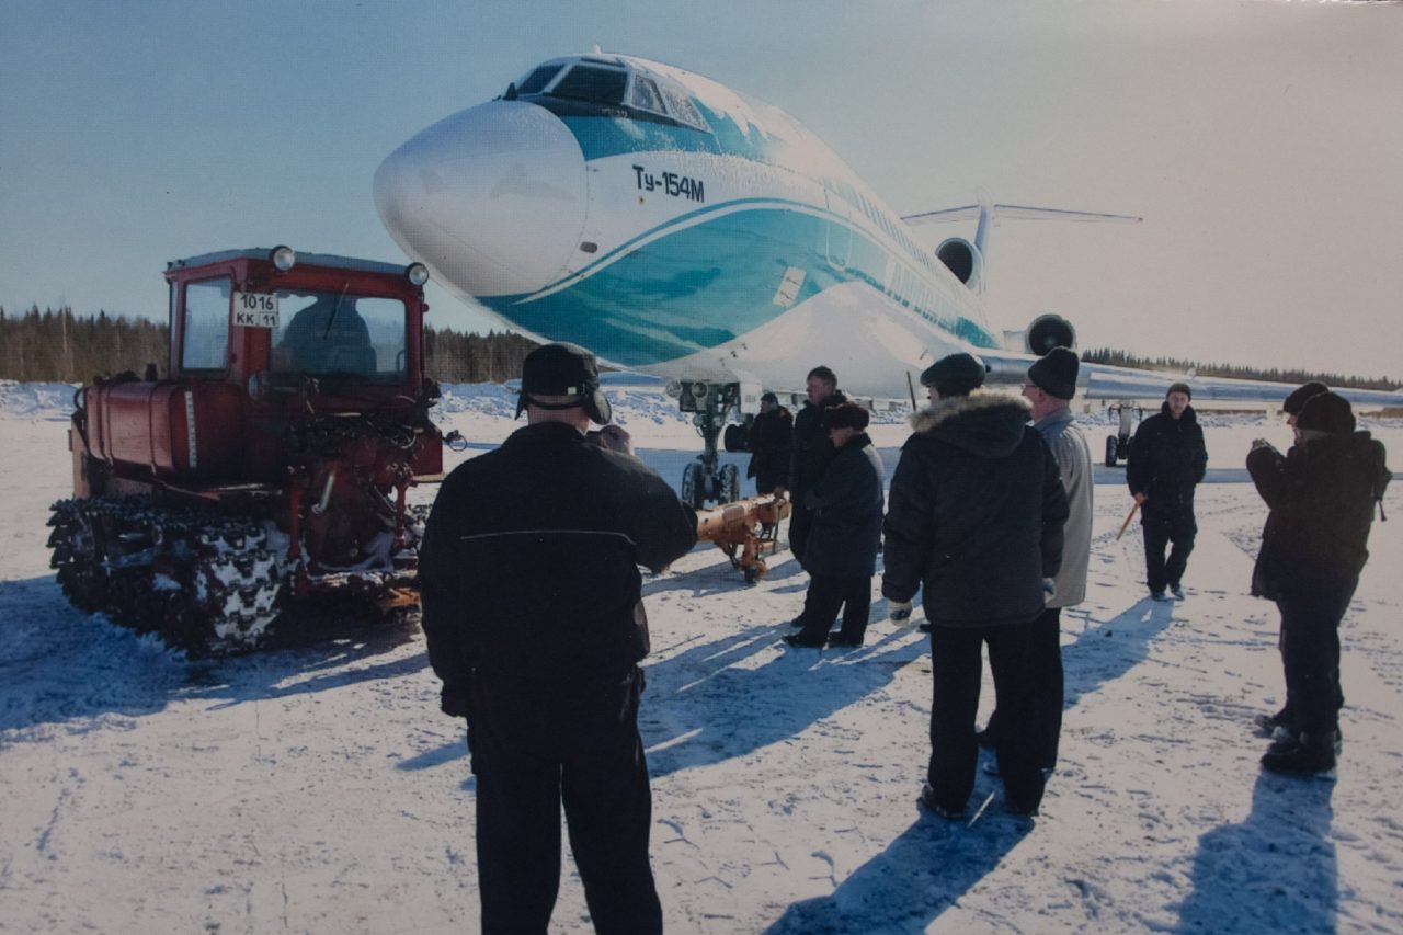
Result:
M989 668L1002 712L995 750L1005 793L1009 803L1020 809L1033 810L1042 802L1030 674L1033 626L1033 621L974 628L937 623L930 630L934 698L926 781L940 804L948 809L964 809L974 790L979 758L974 719L979 709L984 643L989 644Z

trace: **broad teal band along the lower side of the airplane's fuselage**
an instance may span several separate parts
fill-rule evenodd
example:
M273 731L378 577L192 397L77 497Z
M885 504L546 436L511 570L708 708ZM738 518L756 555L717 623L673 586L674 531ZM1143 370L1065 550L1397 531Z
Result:
M832 243L847 236L843 230L836 218L756 206L679 226L641 247L620 247L624 256L607 264L600 258L578 282L537 299L480 300L550 340L582 344L624 366L650 366L714 348L783 314L787 309L773 298L790 267L805 272L796 305L843 282L882 291L887 253L861 232L853 232L846 256L833 257L842 265L829 263ZM912 313L971 344L995 345L969 319Z

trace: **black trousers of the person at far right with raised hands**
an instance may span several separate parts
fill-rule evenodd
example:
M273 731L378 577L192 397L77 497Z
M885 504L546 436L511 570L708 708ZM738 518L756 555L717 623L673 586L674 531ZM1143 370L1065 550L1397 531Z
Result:
M1291 726L1323 734L1340 726L1340 621L1358 578L1334 587L1277 598L1281 611L1281 661L1287 672Z

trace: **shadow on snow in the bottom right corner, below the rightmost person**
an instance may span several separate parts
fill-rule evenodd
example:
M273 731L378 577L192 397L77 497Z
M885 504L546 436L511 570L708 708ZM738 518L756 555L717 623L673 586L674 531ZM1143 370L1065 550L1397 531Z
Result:
M1260 774L1247 817L1198 838L1194 891L1176 931L1333 932L1333 782Z

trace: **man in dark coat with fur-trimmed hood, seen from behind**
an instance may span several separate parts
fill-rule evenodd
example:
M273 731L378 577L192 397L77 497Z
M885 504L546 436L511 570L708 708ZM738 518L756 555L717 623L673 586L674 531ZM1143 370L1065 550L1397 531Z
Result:
M925 588L934 699L922 803L960 817L978 760L974 719L984 661L999 694L999 772L1007 807L1042 800L1030 650L1049 580L1062 564L1066 490L1028 402L974 393L985 366L969 354L936 361L920 382L933 406L912 418L882 526L882 595L894 619Z

